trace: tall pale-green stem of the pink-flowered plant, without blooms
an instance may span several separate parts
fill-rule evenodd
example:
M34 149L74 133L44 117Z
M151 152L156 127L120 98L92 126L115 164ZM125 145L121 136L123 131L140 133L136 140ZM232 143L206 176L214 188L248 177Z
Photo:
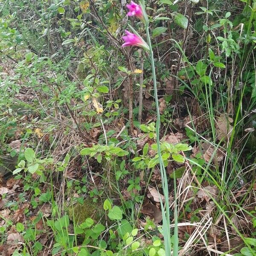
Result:
M150 40L149 22L148 22L148 16L145 13L144 0L142 1L142 6L143 6L144 17L145 17L144 24L145 24L147 43L148 43L148 47L149 47L149 54L150 54L150 60L151 60L152 76L153 76L153 83L154 83L154 97L155 97L156 109L157 109L157 122L156 122L157 154L159 157L160 173L161 173L162 186L163 186L163 195L164 195L164 199L165 199L165 205L163 205L162 201L160 202L161 209L162 209L162 215L163 215L164 246L165 246L166 256L171 256L169 191L168 191L168 180L167 180L167 176L166 176L166 170L164 167L164 163L163 163L163 159L162 159L162 155L161 155L161 149L160 149L160 111L159 111L159 104L158 104L158 99L157 99L157 80L156 80L156 73L155 73L155 66L154 66L154 54L153 54L151 40Z

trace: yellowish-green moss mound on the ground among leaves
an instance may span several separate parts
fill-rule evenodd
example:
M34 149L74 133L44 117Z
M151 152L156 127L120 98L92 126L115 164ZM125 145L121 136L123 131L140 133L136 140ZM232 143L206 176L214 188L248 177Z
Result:
M87 218L99 222L103 211L100 203L94 203L92 198L86 198L84 204L76 203L68 208L68 215L71 220L75 219L76 224L83 223Z

